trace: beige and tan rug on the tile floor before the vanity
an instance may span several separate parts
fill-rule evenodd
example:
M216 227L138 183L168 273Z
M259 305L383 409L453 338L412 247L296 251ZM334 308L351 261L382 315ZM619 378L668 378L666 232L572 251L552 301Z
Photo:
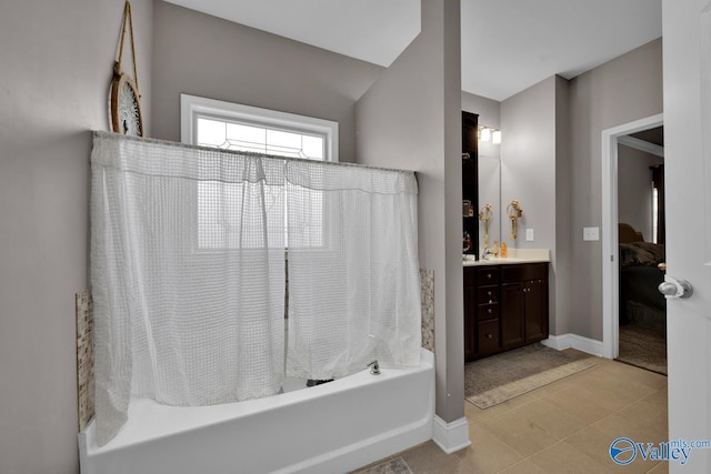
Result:
M464 396L488 409L593 365L592 357L535 343L465 364Z

